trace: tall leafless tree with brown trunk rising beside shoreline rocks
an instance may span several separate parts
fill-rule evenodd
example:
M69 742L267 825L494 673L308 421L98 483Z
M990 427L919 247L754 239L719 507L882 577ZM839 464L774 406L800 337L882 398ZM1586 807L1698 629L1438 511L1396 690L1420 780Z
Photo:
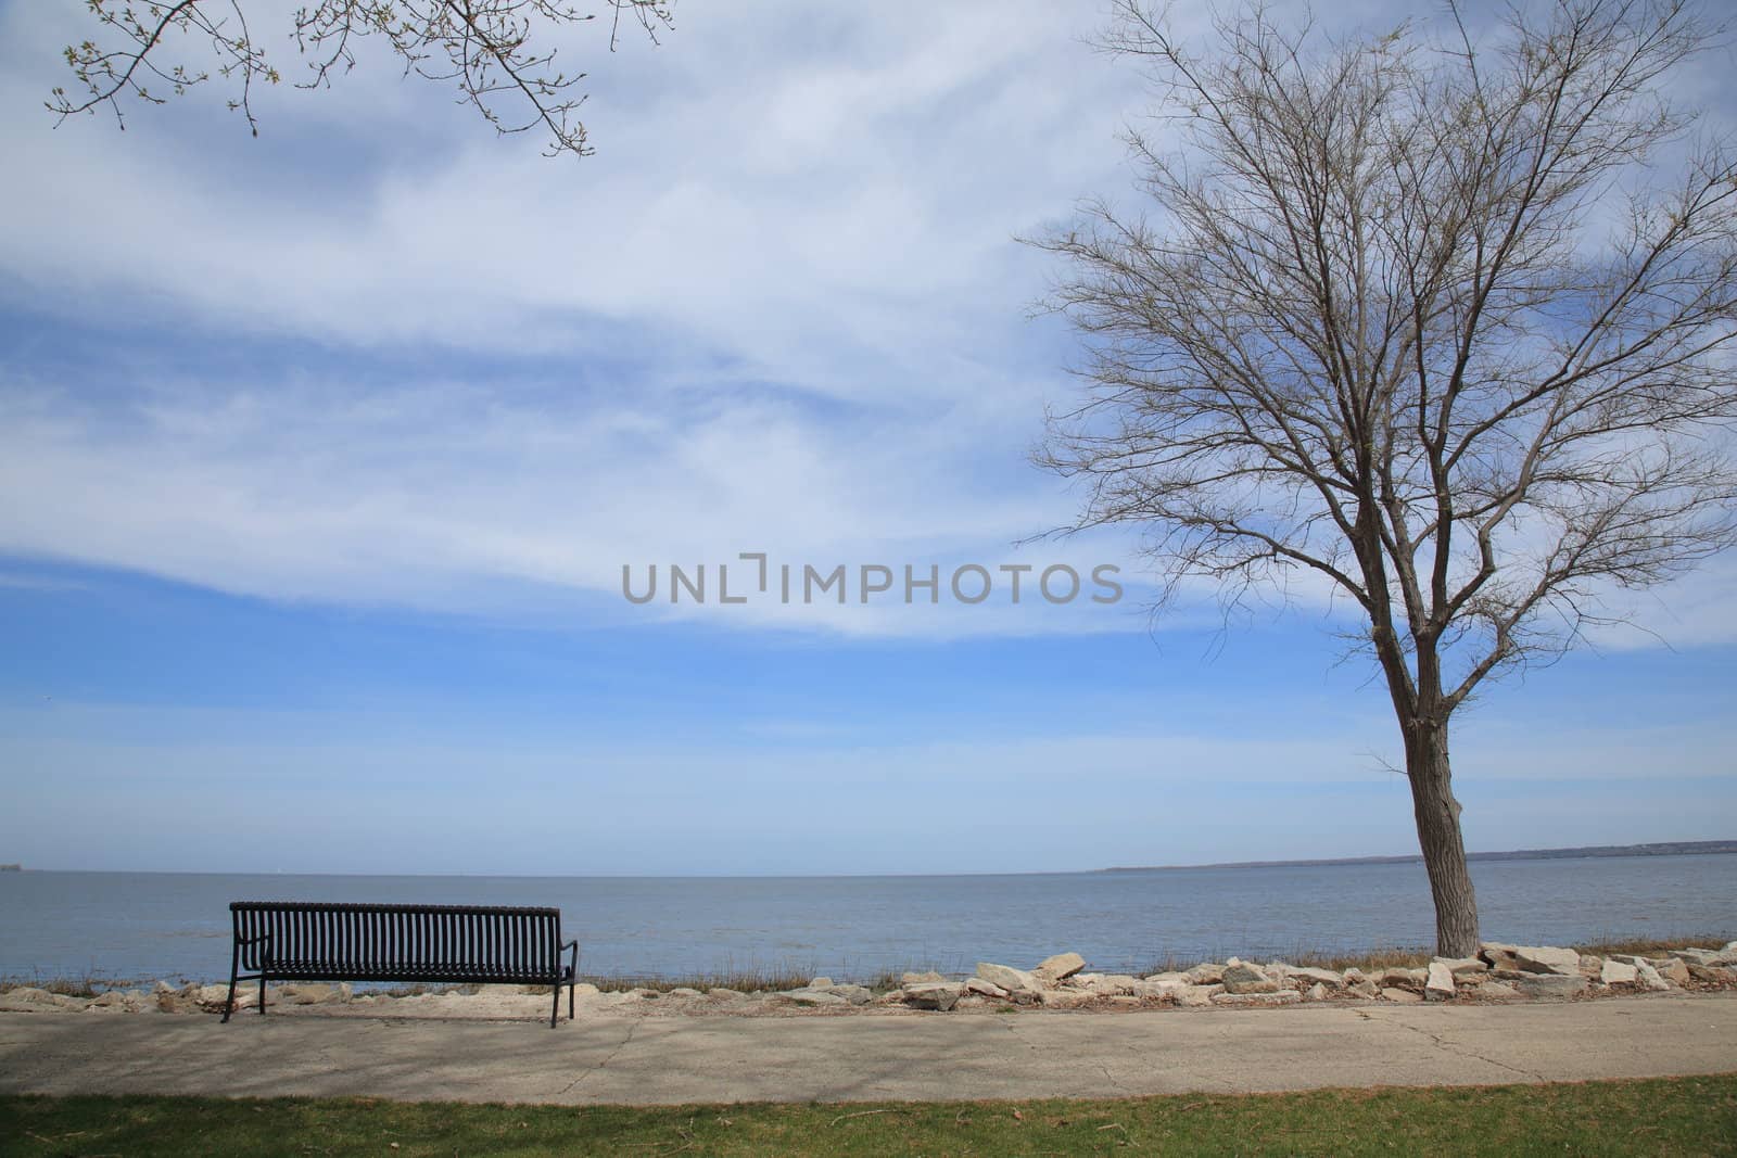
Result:
M1541 0L1327 43L1256 7L1195 56L1122 0L1167 94L1155 215L1039 245L1086 401L1039 458L1176 594L1311 575L1355 604L1405 747L1443 955L1478 943L1449 720L1734 540L1737 168L1666 80L1681 0ZM1162 148L1160 148L1162 146Z

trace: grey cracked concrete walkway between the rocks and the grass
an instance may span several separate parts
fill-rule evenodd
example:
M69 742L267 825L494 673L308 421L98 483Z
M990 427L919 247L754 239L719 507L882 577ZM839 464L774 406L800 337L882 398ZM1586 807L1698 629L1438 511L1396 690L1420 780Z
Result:
M563 1023L0 1014L0 1092L731 1102L1483 1085L1737 1071L1737 995L1536 1005Z

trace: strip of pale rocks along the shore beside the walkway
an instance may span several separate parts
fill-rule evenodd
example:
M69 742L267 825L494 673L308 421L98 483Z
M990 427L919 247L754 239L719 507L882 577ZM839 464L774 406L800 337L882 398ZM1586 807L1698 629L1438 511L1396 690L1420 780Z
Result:
M896 988L813 977L794 990L745 993L728 988L599 991L580 984L580 1016L587 1014L797 1014L797 1012L952 1012L1020 1009L1223 1009L1324 1002L1461 1002L1508 1003L1588 1000L1638 993L1737 990L1737 941L1723 948L1674 948L1659 957L1612 953L1596 957L1572 948L1489 941L1476 957L1436 957L1424 967L1318 969L1275 962L1207 962L1186 970L1136 977L1087 972L1079 953L1058 953L1032 969L978 964L969 977L908 972ZM165 1012L221 1014L228 984L111 990L96 997L56 993L40 986L0 991L0 1012ZM259 986L236 991L236 1009L254 1009ZM547 1016L549 991L535 986L464 986L443 991L356 991L347 984L267 986L267 1007L353 1016Z

